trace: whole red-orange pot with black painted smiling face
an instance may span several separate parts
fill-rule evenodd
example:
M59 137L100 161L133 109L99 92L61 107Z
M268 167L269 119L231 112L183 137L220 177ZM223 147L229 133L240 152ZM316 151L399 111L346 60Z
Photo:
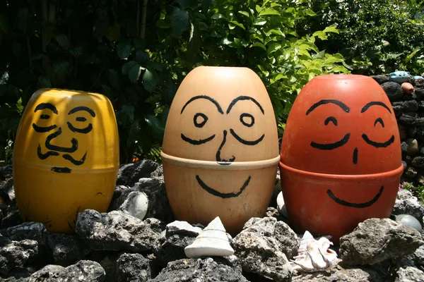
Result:
M403 172L387 94L364 75L305 85L281 145L281 185L293 228L334 243L365 219L389 217Z

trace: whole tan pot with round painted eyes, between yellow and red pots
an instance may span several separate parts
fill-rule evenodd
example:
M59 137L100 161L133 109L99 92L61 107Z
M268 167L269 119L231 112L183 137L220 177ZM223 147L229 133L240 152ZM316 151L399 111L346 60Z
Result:
M167 197L179 220L219 216L235 235L264 216L278 168L271 100L249 68L201 66L179 86L163 141Z

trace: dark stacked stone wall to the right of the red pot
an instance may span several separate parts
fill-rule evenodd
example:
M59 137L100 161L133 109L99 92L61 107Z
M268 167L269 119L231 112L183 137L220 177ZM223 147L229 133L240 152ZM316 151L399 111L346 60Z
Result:
M413 92L409 92L402 89L402 83L390 81L389 75L371 77L389 97L399 125L404 164L401 181L424 185L424 80L410 79Z

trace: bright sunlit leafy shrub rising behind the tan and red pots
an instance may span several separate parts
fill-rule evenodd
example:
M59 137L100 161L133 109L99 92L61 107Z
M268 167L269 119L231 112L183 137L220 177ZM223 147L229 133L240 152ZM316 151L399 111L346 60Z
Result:
M335 25L300 36L295 27L315 16L308 1L216 0L201 30L203 63L247 66L266 85L278 117L278 129L288 116L296 95L314 76L349 73L341 54L326 54L316 42Z

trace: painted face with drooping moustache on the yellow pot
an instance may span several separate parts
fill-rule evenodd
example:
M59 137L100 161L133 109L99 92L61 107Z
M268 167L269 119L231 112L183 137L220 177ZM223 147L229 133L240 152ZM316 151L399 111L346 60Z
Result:
M102 123L110 119L98 113L96 102L101 99L100 95L69 91L49 90L41 96L36 92L28 102L28 114L21 125L31 135L23 156L29 162L51 166L54 173L92 167L101 159L98 152L105 151L102 147L106 138L102 137L107 133L102 133ZM109 153L104 153L107 159ZM104 162L99 161L99 166Z

